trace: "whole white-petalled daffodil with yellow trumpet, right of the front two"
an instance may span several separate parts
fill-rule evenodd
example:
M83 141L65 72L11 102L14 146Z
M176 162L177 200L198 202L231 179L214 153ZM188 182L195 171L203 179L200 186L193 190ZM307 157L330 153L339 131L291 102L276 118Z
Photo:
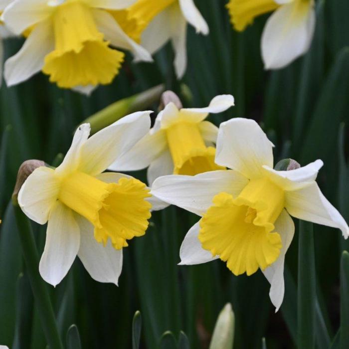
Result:
M272 148L255 121L229 120L220 125L215 161L234 170L160 177L151 193L201 216L182 242L180 264L220 258L235 275L260 268L278 310L285 254L295 230L290 215L339 228L345 238L349 228L315 181L323 162L275 171Z

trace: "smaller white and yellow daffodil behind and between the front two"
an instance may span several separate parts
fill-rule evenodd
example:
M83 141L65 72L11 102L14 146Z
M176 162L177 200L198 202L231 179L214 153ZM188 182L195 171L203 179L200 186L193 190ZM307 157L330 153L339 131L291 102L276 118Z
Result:
M220 95L206 108L177 109L173 102L159 113L154 127L109 169L136 171L148 168L148 183L166 174L194 175L223 169L214 163L218 128L204 119L234 105L234 97Z

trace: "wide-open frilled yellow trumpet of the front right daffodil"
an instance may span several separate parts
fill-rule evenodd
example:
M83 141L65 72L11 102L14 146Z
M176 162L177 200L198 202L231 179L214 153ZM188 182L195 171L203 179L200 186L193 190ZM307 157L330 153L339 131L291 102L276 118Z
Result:
M221 192L200 221L202 247L219 255L235 274L251 275L276 261L282 247L274 223L284 191L268 178L251 180L236 199Z

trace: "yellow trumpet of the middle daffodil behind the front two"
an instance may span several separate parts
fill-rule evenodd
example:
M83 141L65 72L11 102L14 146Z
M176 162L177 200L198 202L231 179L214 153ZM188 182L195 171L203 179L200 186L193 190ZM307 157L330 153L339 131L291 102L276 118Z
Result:
M224 170L214 163L215 149L206 147L197 124L178 122L166 129L174 174L194 175Z

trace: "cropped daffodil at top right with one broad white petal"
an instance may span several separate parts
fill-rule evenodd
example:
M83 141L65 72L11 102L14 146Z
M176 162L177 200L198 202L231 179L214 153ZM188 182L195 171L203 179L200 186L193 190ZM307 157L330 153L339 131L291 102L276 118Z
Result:
M227 7L238 31L256 16L275 10L262 34L266 69L283 68L308 51L315 29L314 0L230 0Z

